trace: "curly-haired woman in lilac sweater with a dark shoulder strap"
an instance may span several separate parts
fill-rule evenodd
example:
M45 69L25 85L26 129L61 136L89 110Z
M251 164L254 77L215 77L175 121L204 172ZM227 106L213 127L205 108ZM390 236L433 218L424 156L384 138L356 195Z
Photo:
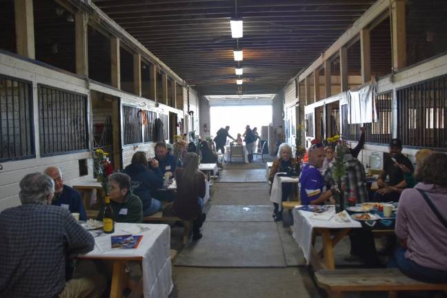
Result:
M417 166L414 188L402 192L395 232L397 267L408 277L447 283L447 155L434 152Z

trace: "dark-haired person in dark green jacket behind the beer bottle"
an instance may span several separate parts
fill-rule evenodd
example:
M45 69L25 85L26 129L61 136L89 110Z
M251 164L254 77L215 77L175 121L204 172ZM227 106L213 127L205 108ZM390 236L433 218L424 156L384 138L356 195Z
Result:
M132 193L130 177L123 172L114 172L109 177L110 206L113 219L123 223L141 223L143 221L143 204L139 197ZM98 220L103 219L104 203L99 208Z

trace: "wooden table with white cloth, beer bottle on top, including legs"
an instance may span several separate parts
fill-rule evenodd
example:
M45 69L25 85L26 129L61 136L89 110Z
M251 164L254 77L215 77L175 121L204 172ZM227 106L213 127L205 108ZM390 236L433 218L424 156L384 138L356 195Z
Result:
M145 232L131 233L143 235L143 239L136 249L104 249L99 246L110 235L95 237L95 249L87 255L79 256L79 259L101 259L112 261L112 284L110 298L123 297L123 289L126 286L126 263L129 261L141 262L143 271L142 285L145 297L150 293L161 293L161 297L168 297L172 289L172 272L170 264L170 228L163 224L116 224L112 235L130 234L130 229L135 227L149 228ZM101 238L101 239L100 239ZM152 297L152 295L151 295Z

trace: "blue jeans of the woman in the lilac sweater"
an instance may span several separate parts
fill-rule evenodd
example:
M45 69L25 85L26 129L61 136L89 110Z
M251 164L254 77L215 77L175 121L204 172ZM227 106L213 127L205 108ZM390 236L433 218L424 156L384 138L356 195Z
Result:
M432 284L444 284L447 282L447 271L419 266L415 261L405 257L406 250L402 247L395 251L395 259L390 261L388 267L397 266L404 275Z

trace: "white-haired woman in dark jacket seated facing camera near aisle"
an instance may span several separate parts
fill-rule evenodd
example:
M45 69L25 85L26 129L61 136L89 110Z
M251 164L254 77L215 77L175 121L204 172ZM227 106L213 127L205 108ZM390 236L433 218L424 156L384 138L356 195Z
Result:
M289 168L295 169L299 166L297 159L292 157L292 147L288 143L281 143L278 150L278 159L275 159L270 168L268 180L273 185L273 179L277 172L288 172ZM292 193L292 183L282 183L282 201L287 201L287 197ZM270 187L271 190L271 187ZM273 218L275 221L281 221L282 211L279 211L279 204L273 203Z

